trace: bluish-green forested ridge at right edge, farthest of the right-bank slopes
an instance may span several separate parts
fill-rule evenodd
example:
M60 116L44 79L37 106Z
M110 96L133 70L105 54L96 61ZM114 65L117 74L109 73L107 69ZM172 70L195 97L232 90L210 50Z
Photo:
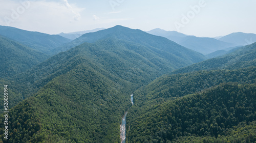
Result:
M237 50L231 53L225 54L223 56L208 59L203 62L199 62L193 65L178 69L174 71L173 74L200 71L200 70L238 69L238 68L256 66L255 54L256 54L256 42L247 46L243 46L242 48L238 48Z

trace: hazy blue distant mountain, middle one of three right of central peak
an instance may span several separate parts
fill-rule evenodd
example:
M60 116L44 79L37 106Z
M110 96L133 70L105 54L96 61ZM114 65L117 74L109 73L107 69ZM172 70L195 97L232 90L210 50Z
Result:
M196 36L187 36L183 38L178 44L203 54L208 54L217 50L236 46L236 44L219 41L214 38Z

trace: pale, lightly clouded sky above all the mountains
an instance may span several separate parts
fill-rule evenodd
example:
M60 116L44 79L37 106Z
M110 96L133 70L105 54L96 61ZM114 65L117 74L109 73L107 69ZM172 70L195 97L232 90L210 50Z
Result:
M47 34L122 25L197 37L256 34L255 0L0 0L0 25Z

